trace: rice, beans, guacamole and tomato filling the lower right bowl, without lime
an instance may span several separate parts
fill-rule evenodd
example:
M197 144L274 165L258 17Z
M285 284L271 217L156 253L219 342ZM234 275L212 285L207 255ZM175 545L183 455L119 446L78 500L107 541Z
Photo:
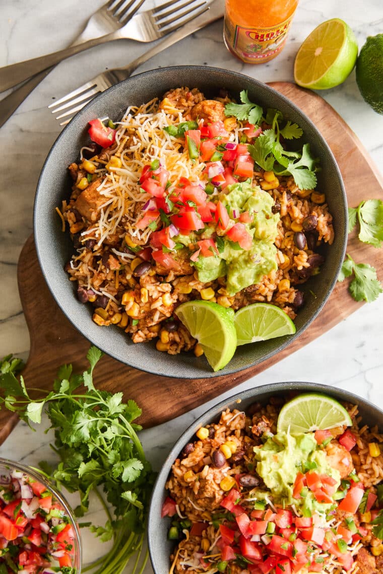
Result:
M162 509L177 544L171 573L345 574L363 552L383 564L372 530L383 503L355 470L352 430L274 434L264 415L249 426L245 413L225 414L243 416L241 437L225 436L221 418L173 465ZM371 564L362 572L381 572Z

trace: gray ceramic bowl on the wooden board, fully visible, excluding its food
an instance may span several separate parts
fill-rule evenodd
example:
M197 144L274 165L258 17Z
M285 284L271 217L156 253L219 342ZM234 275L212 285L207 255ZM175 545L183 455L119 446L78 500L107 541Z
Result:
M68 165L78 160L79 150L89 142L87 123L93 118L122 117L128 105L140 105L177 86L198 87L206 96L214 96L226 88L235 98L248 90L252 101L264 108L281 110L284 117L298 123L304 130L304 141L319 157L322 171L318 189L327 191L327 201L334 216L335 241L326 253L321 272L304 285L306 303L296 319L295 335L271 339L238 348L234 358L219 373L213 373L204 356L193 353L170 356L156 350L154 343L133 344L122 329L100 328L92 321L90 306L81 304L75 286L64 272L64 263L73 253L69 234L61 232L61 222L55 214L71 193ZM206 378L235 373L260 363L274 355L293 339L299 337L322 309L335 285L341 268L347 241L347 202L342 177L334 156L314 124L287 98L265 84L245 75L218 68L179 66L161 68L133 76L100 94L84 107L59 135L49 152L37 184L34 204L34 238L38 260L48 287L57 304L74 327L102 351L132 367L177 378ZM312 293L315 296L312 296Z

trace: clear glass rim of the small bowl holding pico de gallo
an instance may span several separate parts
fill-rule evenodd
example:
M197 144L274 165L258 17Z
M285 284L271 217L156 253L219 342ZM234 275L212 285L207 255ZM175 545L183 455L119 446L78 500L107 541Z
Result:
M45 488L52 494L52 500L58 502L65 511L65 515L69 518L69 523L72 526L74 538L73 538L73 568L75 568L76 574L81 574L81 564L82 564L82 546L81 546L81 538L80 538L80 530L76 523L76 518L73 514L73 510L69 506L67 500L59 492L44 475L40 474L40 472L33 470L28 466L24 466L24 464L16 463L13 460L7 460L0 457L0 476L10 474L12 471L19 471L27 476L30 476L37 482L41 482L44 484Z

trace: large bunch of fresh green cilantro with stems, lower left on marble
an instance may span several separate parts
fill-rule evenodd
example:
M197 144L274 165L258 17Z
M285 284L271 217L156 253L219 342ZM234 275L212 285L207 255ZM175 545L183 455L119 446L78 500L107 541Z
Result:
M20 362L8 356L0 367L0 405L17 412L29 425L39 424L43 411L48 414L55 429L52 448L60 462L56 468L47 463L40 466L58 487L79 493L76 516L88 510L91 492L100 498L107 522L93 525L91 530L102 541L113 538L114 544L91 567L95 567L94 574L121 574L133 554L137 556L134 570L140 560L155 476L137 436L141 426L133 422L141 409L134 401L123 402L122 393L99 391L94 386L93 371L101 355L91 347L87 354L90 367L82 374L73 373L70 364L61 366L53 390L38 399L30 397L22 377L20 381L16 378ZM99 487L113 506L114 516ZM146 559L147 554L144 563Z

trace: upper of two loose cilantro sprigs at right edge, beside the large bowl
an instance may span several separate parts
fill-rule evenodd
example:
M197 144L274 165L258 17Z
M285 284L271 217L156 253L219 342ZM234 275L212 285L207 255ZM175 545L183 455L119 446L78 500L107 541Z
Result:
M349 233L359 223L358 237L363 243L381 247L383 242L383 201L367 199L349 207Z

